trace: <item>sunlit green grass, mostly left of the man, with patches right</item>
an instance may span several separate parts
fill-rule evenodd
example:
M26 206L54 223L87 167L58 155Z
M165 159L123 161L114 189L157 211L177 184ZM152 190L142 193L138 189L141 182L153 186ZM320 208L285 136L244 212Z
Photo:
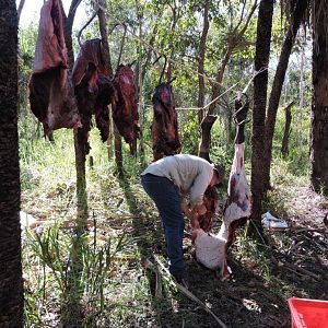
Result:
M56 327L68 302L67 286L74 245L73 231L61 227L61 224L73 224L77 214L73 133L66 129L55 131L55 143L50 143L36 138L36 127L31 126L32 121L21 122L22 210L36 219L51 221L52 227L25 233L23 238L25 326ZM180 129L184 152L195 153L198 140L195 121L187 117ZM234 147L226 144L224 136L224 127L218 120L213 127L211 157L222 163L229 173ZM277 144L279 140L280 134ZM160 225L156 210L139 183L144 162L139 156L130 156L124 143L122 180L116 174L114 160L108 160L106 144L101 142L96 129L90 133L90 144L89 156L94 160L93 167L86 160L90 231L81 245L82 274L75 277L83 326L132 327L138 324L145 327L151 323L151 327L161 327L163 314L172 311L172 304L178 302L179 295L164 282L165 300L155 300L151 288L153 278L149 280L149 272L141 266L141 258L151 255L156 244L163 244L161 229L156 225ZM248 175L249 148L246 153ZM307 184L307 166L302 161L295 162L293 152L290 157L282 159L277 149L271 175L273 189L268 194L265 208L284 216L292 197L289 186ZM145 162L149 163L152 161L151 149L147 147L145 150ZM295 286L274 274L270 251L257 246L241 234L234 254L246 268L255 263L257 274L268 286L277 289L280 296L291 295ZM183 309L178 317L181 323L190 323L188 315Z

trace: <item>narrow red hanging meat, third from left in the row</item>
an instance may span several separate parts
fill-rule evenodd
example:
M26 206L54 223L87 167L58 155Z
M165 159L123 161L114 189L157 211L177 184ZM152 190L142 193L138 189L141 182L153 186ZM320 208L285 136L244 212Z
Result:
M119 134L129 144L131 154L134 154L140 127L134 73L130 65L120 65L117 68L114 86L116 96L113 102L113 119Z

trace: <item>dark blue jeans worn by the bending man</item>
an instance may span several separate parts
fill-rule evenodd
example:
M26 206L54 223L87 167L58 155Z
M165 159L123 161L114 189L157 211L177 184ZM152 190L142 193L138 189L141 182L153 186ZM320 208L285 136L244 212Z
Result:
M169 179L152 174L142 175L141 184L154 201L162 219L169 272L176 279L183 279L185 274L183 253L185 219L180 207L179 190Z

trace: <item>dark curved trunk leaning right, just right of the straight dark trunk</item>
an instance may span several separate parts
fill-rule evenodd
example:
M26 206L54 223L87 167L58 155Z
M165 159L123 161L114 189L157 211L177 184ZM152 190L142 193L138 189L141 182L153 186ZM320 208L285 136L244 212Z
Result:
M268 115L266 119L266 144L265 152L266 155L263 157L263 188L265 191L270 189L270 166L272 160L272 139L274 134L274 126L277 118L277 110L279 107L279 101L281 96L281 91L283 86L283 81L286 72L286 68L289 65L290 55L292 51L292 47L295 42L295 37L297 35L297 31L300 28L301 22L304 17L304 13L307 9L307 1L298 1L293 0L292 7L292 23L290 28L288 30L286 37L281 48L279 62L277 66L277 71L273 79L272 91L270 94L269 106L268 106Z

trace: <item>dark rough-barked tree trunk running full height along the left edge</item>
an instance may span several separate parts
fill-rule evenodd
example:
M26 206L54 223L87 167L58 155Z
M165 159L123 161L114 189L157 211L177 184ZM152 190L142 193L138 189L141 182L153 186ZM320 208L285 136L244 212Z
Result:
M0 327L23 327L17 134L17 15L0 1Z

